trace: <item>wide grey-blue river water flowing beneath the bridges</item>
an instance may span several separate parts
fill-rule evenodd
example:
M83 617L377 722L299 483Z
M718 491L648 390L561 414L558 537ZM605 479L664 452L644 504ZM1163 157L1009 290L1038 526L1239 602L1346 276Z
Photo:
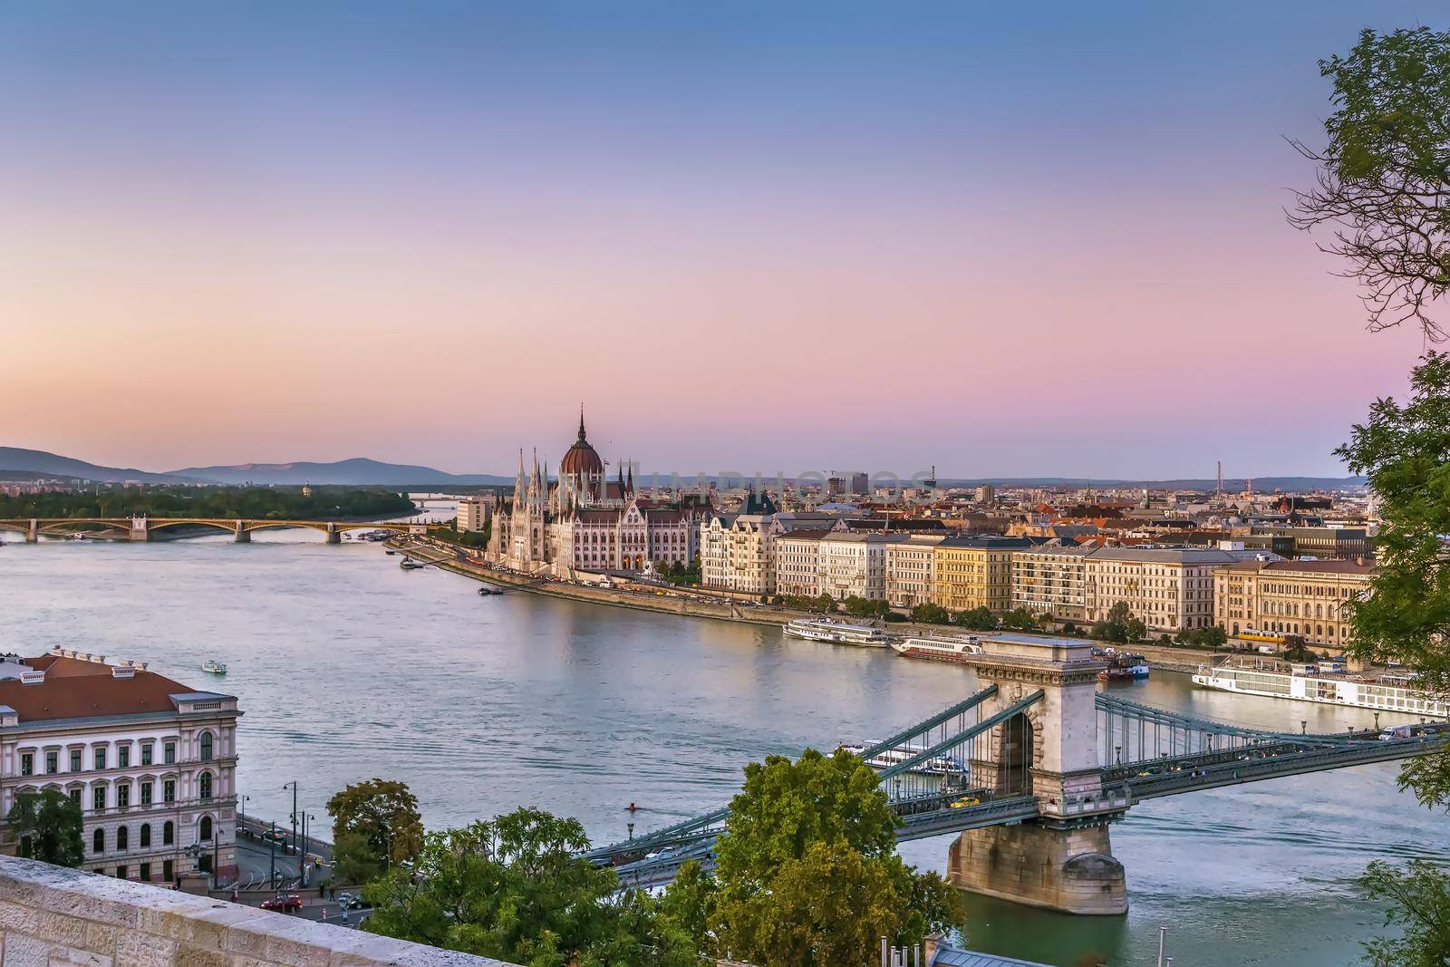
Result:
M9 535L7 539L13 538ZM402 571L380 547L310 532L254 544L48 541L0 548L3 648L65 645L151 661L236 694L241 792L284 819L349 781L402 779L429 826L534 805L596 841L725 802L768 752L876 738L973 692L970 673L776 629L512 593ZM225 680L200 671L231 665ZM1118 689L1118 686L1115 686ZM1124 694L1244 725L1343 731L1367 713L1195 690L1156 674ZM1443 857L1443 819L1366 765L1144 803L1114 826L1127 918L973 903L972 947L1050 964L1322 967L1359 958L1380 912L1356 893L1372 858ZM941 868L948 839L908 844Z

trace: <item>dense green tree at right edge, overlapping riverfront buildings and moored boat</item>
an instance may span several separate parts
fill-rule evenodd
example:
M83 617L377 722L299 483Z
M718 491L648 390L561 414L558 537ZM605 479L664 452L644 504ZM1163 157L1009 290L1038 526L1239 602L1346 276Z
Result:
M1425 355L1405 404L1376 400L1338 455L1369 477L1380 532L1369 593L1347 605L1363 661L1393 658L1420 673L1420 686L1450 694L1450 355ZM1450 751L1414 758L1401 787L1427 806L1450 806Z

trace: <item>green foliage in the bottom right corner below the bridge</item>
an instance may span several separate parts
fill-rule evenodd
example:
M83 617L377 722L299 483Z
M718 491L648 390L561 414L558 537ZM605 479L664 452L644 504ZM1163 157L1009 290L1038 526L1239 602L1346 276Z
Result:
M1398 928L1396 937L1380 937L1364 944L1375 967L1444 967L1450 964L1450 874L1443 868L1411 860L1396 868L1382 860L1369 864L1360 879L1364 893L1388 902L1385 926Z

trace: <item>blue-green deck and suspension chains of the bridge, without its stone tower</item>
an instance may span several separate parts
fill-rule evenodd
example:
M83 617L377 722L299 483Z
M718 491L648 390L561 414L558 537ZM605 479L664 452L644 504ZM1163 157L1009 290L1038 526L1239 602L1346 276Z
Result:
M1027 792L1014 789L1011 783L999 783L996 790L979 789L972 786L969 776L945 776L940 777L938 792L902 796L899 783L890 780L942 757L953 758L953 751L960 752L957 761L969 761L967 750L976 739L1000 726L1016 712L1032 706L1041 694L1028 696L970 726L948 728L941 741L929 745L922 741L924 735L941 729L954 718L961 725L963 716L993 692L995 687L987 687L967 702L861 752L864 758L871 758L883 750L895 750L902 755L898 764L879 770L882 786L898 818L899 841L1024 822L1043 822L1056 828L1114 822L1134 803L1146 799L1425 755L1450 739L1450 723L1430 723L1420 729L1420 735L1392 741L1382 741L1375 732L1293 735L1254 731L1099 694L1096 705L1099 715L1106 721L1106 734L1114 736L1121 732L1130 757L1122 758L1124 747L1116 747L1119 761L1099 770L1095 794L1069 794L1064 789ZM1174 751L1166 754L1159 751L1161 748L1159 744L1140 742L1138 755L1134 758L1128 735L1134 725L1144 736L1148 734L1148 725L1169 728L1167 735L1160 734L1160 738ZM1218 748L1214 748L1215 745ZM1179 747L1183 751L1177 751ZM972 799L979 802L956 805ZM1051 809L1044 809L1047 805ZM697 860L705 868L713 867L715 841L725 831L728 816L726 806L637 839L599 847L586 855L600 866L613 866L625 884L660 886L673 880L687 860Z

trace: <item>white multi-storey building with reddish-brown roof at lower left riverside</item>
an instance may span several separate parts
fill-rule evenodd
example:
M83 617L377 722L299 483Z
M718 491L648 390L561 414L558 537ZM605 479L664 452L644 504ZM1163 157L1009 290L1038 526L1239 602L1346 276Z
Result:
M22 793L81 806L83 868L173 883L236 871L236 699L145 663L52 648L0 657L0 818ZM0 847L26 842L0 826Z

